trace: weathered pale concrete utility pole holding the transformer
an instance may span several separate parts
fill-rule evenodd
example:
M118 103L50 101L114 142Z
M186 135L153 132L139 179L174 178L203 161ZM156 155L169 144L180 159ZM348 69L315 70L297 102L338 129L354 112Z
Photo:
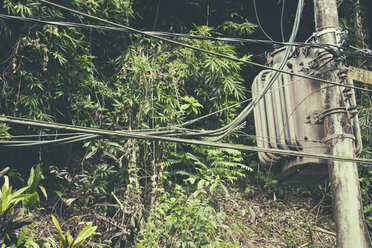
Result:
M339 27L336 0L314 0L315 28L320 43L337 44L336 28ZM342 62L341 62L342 63ZM323 74L325 79L339 82L338 71ZM340 87L322 85L325 109L344 106ZM345 113L325 117L324 128L329 153L354 157L354 140L350 119ZM367 248L367 228L363 214L358 170L356 163L331 161L328 164L331 184L333 216L337 231L337 247Z

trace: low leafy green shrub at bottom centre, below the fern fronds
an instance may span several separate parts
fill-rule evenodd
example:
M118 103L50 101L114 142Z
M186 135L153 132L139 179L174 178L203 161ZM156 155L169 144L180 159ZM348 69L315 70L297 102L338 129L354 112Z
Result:
M218 210L205 186L188 195L181 185L175 194L160 190L160 204L151 213L137 247L239 247L230 240L228 215Z

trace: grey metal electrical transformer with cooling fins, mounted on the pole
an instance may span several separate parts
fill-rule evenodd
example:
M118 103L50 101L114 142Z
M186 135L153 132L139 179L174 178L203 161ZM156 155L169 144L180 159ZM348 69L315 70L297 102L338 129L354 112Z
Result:
M267 64L277 68L284 53L284 47L268 53ZM328 66L327 70L323 67L333 60L333 55L321 48L293 48L284 70L316 77L329 71ZM346 73L343 75L344 72L337 67L333 70L338 70L345 84L352 84ZM253 98L261 94L274 73L272 70L259 73L252 85ZM359 155L362 148L354 91L346 87L342 89L344 106L327 110L323 106L320 87L319 81L280 73L254 109L258 147L327 154L329 137L324 133L323 118L332 113L345 113L351 120L352 138L356 143L354 152ZM315 183L328 177L326 160L268 152L261 152L258 156L261 164L280 172L280 181Z

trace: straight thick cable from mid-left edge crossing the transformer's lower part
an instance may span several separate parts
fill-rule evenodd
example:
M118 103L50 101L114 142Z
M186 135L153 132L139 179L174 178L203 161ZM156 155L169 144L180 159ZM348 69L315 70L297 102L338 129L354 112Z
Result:
M15 117L10 117L10 116L3 116L2 118L0 118L0 122L21 124L21 125L27 125L27 126L37 126L41 128L53 128L53 129L69 130L69 131L76 131L76 132L84 132L84 133L92 134L92 135L101 135L103 137L157 140L157 141L171 142L171 143L230 148L230 149L236 149L236 150L242 150L242 151L268 152L268 153L282 154L282 155L288 155L288 156L311 157L311 158L318 158L318 159L325 159L325 160L338 160L338 161L372 164L372 160L370 159L334 156L330 154L305 153L305 152L299 152L299 151L280 150L280 149L272 149L272 148L260 148L260 147L253 147L253 146L247 146L247 145L233 145L233 144L226 144L226 143L221 143L221 142L172 138L172 137L164 137L164 136L156 136L156 135L148 135L148 134L130 133L130 132L125 132L125 131L110 131L110 130L104 130L104 129L98 129L98 128L77 127L77 126L60 124L60 123L27 120L23 118L15 118Z

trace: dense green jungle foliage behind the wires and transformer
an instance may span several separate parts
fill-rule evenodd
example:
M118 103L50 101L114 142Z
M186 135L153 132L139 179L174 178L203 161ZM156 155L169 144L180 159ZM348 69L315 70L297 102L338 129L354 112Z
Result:
M288 40L297 1L257 1L272 39ZM267 39L246 0L55 1L139 30ZM371 48L367 0L338 1L350 44ZM305 1L298 41L314 32ZM101 24L30 0L3 0L0 13ZM281 29L281 20L283 29ZM266 62L265 44L177 41ZM371 60L347 65L371 70ZM185 123L251 97L259 68L152 38L0 18L0 114L108 130ZM364 150L372 157L371 96L357 92ZM244 103L194 123L228 124ZM55 131L2 124L1 138ZM254 134L253 117L243 129ZM63 134L63 132L61 132ZM256 145L254 135L223 142ZM287 185L256 153L135 139L92 139L0 151L0 247L335 247L328 182ZM359 174L372 228L371 168ZM10 186L11 185L11 186ZM7 187L8 186L8 187ZM1 244L3 243L3 244Z

